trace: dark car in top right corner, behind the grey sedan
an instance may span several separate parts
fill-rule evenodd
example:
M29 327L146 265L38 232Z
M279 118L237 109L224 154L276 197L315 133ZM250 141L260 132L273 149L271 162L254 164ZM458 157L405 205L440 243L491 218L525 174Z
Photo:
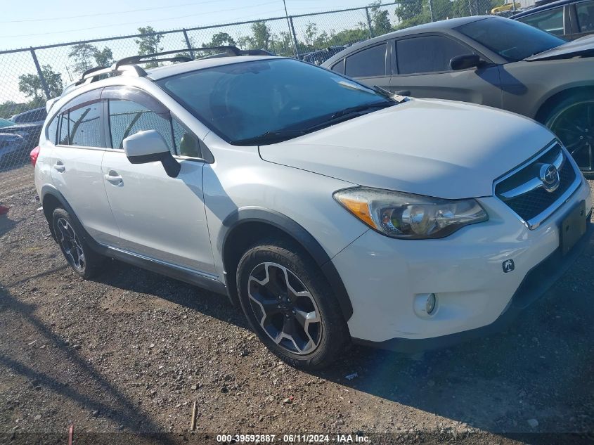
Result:
M536 5L510 18L566 40L594 34L594 0L537 1Z

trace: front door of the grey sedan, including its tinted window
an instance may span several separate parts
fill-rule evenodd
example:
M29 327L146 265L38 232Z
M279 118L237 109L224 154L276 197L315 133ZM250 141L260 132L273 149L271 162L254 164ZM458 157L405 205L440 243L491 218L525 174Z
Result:
M418 34L397 39L391 91L410 91L420 98L440 98L501 108L501 82L496 65L453 71L455 56L477 53L444 34ZM482 58L484 56L480 55Z

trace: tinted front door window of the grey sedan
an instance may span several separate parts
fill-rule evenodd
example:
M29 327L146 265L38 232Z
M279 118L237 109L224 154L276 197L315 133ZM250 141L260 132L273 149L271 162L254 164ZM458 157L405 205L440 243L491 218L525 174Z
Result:
M396 41L398 74L449 71L451 58L470 53L472 50L447 37L425 36L399 40Z

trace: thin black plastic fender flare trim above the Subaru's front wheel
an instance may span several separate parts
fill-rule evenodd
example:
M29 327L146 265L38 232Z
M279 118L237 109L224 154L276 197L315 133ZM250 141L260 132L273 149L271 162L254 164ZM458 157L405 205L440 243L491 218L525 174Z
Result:
M302 245L306 252L308 252L314 259L316 264L320 267L324 277L328 280L334 295L340 304L340 309L346 321L353 315L353 306L351 299L344 288L342 278L336 270L336 267L330 261L328 253L318 243L316 238L311 235L299 223L287 217L285 214L276 212L272 209L264 207L241 207L229 214L223 221L219 236L217 236L217 250L221 253L221 257L225 252L226 242L229 235L242 224L248 222L260 222L269 224L278 228L280 231L287 233L288 236L294 238L297 243ZM225 273L225 281L227 281L227 273ZM227 287L228 287L228 283Z

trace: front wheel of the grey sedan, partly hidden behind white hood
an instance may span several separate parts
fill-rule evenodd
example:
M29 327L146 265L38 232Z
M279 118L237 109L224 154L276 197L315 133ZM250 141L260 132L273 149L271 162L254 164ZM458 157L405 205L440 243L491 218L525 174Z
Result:
M557 135L586 176L594 174L594 94L574 93L545 113L543 124Z

